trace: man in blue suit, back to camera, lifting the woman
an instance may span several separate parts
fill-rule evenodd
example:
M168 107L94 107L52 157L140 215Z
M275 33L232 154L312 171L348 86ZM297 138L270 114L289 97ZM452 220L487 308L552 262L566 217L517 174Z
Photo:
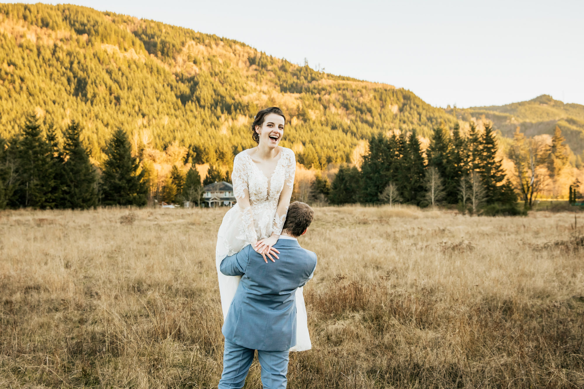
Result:
M306 233L313 217L308 204L290 204L280 239L273 246L280 254L276 263L264 262L251 245L221 262L221 273L242 277L223 324L219 389L244 386L255 350L263 388L286 388L288 349L296 345L294 296L317 266L317 255L301 248L297 238Z

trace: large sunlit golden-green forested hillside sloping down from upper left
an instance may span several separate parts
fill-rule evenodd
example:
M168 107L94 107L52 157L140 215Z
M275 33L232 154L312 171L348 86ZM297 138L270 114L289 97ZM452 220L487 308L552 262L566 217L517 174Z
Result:
M0 136L35 112L43 128L72 120L93 161L117 128L135 152L180 148L181 158L229 169L251 147L261 107L288 118L283 145L305 166L350 162L380 130L456 119L405 89L315 71L244 43L74 5L0 5ZM183 149L186 148L186 149ZM174 149L173 149L174 150ZM354 158L354 157L353 157Z

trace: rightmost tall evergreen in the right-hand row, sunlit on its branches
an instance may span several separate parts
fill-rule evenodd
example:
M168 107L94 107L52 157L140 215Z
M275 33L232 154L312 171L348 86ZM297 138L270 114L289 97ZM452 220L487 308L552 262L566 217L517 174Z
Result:
M485 123L485 131L479 143L477 171L485 189L487 204L515 202L513 187L506 180L502 160L496 158L498 145L491 124Z

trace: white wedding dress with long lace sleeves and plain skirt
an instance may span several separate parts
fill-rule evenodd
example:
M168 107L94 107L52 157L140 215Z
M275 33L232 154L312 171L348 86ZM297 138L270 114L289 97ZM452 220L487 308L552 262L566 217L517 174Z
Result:
M248 151L240 152L233 161L231 180L237 204L227 211L217 234L215 265L219 277L223 319L227 316L241 277L225 276L221 273L221 261L225 256L234 255L251 244L253 238L259 241L272 235L272 232L280 234L294 185L296 158L292 150L281 148L280 159L270 178L260 171ZM274 265L277 262L276 259ZM312 345L301 287L296 291L296 318L296 346L290 351L309 350Z

